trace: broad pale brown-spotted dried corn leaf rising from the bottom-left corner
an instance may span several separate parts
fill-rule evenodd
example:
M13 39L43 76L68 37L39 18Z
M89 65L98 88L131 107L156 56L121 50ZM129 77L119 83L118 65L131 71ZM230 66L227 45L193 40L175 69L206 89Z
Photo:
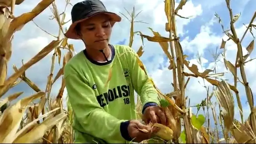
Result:
M15 137L15 134L20 126L22 116L27 109L27 106L33 100L44 96L44 92L38 92L28 98L19 100L13 106L7 108L4 113L1 115L0 119L0 142L1 143L12 143Z

